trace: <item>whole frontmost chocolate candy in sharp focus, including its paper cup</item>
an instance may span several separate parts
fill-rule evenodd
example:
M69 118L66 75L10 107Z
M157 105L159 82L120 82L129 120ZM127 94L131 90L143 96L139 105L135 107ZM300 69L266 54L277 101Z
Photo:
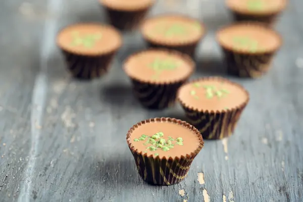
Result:
M192 125L172 118L154 118L133 125L126 135L139 175L150 184L182 181L204 145Z

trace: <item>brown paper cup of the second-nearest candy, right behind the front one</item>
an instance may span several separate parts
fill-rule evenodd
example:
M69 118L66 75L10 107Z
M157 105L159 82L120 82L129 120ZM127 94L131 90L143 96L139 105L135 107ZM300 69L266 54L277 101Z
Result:
M247 94L247 99L239 106L232 109L221 110L221 111L200 111L191 107L190 105L182 101L182 97L178 96L178 101L185 111L186 117L189 122L195 126L204 139L222 139L229 137L234 132L237 122L249 101L249 93L239 84L231 82L221 77L207 77L200 78L189 83L194 83L201 80L222 80L232 85L236 85L242 88ZM201 104L203 105L203 104Z

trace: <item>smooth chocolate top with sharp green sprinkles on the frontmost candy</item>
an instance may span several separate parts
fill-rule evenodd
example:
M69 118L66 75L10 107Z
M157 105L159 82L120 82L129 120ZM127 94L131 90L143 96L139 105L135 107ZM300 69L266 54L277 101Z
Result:
M183 125L158 121L145 123L133 130L130 143L138 152L154 157L181 157L194 153L199 147L199 136Z

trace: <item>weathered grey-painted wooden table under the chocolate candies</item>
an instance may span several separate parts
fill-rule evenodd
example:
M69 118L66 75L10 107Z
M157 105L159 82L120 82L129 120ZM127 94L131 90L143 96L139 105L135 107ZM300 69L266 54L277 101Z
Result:
M205 22L193 77L230 78L214 41L232 21L223 0L176 2L162 1L150 15L180 11ZM144 48L139 33L124 35L107 76L75 81L55 36L70 23L104 21L97 1L1 1L0 201L303 201L300 8L301 0L290 1L276 26L284 45L272 70L231 78L251 95L234 135L206 141L180 184L151 186L137 175L126 132L146 118L185 118L180 106L147 111L134 99L121 62Z

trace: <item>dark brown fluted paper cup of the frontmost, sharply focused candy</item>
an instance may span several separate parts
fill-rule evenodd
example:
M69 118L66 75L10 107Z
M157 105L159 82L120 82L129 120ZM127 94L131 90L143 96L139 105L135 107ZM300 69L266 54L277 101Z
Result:
M170 157L169 159L166 159L165 157L160 158L159 156L154 157L153 155L147 156L147 154L142 153L142 151L135 149L130 143L132 132L143 124L160 121L176 123L188 128L188 130L195 132L200 139L198 148L193 149L191 154L174 158ZM193 159L204 146L204 141L201 134L192 125L186 123L185 121L164 117L147 119L133 125L126 134L126 140L136 162L139 175L144 181L154 185L172 185L184 180Z

